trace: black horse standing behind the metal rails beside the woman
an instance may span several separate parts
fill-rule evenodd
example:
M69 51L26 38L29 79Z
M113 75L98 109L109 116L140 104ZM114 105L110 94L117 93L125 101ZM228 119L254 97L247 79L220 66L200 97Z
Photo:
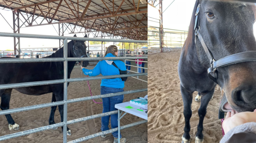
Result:
M76 35L74 35L76 37ZM84 37L87 37L84 36ZM68 58L87 57L86 45L84 41L71 40L68 42ZM45 58L63 58L63 47L50 56ZM74 68L76 61L68 62L68 78ZM88 61L81 62L83 67L88 65ZM0 64L0 85L10 83L23 83L33 81L46 81L64 79L64 62L36 62L36 63L8 63ZM14 88L20 93L27 95L42 95L52 93L52 102L62 101L64 99L64 83L39 85L31 87ZM12 89L0 89L2 110L9 109L9 102ZM54 113L57 106L51 107L49 124L55 124ZM63 105L58 105L61 121L63 122ZM14 122L10 114L5 115L9 123L10 130L18 130L19 125ZM63 127L62 127L63 131ZM67 128L67 135L71 135Z

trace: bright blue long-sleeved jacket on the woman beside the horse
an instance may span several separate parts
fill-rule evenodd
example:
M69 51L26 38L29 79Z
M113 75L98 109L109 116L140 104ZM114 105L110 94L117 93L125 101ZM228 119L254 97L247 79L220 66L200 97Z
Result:
M105 57L115 57L113 54L108 53ZM98 64L94 67L92 70L87 70L83 68L83 73L85 75L89 76L97 76L100 73L105 76L105 75L120 75L119 70L112 65L112 62L116 64L116 66L120 70L126 70L126 66L124 62L120 60L103 60L98 62ZM124 88L124 81L122 81L121 78L114 78L114 79L101 79L101 85L100 86L105 86L105 87L112 87L112 88Z

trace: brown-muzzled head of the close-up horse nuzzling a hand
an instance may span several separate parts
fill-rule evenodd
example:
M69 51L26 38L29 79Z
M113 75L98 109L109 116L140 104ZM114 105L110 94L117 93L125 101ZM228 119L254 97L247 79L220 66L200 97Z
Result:
M200 8L196 12L199 4ZM194 18L196 25L194 32L200 32L212 59L217 61L232 54L256 51L253 34L255 10L254 4L197 1L193 16L198 13L199 20ZM198 59L207 69L211 65L209 54L206 54L199 36L194 38ZM241 62L217 68L213 76L216 76L218 84L224 91L220 105L222 111L234 109L243 112L256 109L256 62Z

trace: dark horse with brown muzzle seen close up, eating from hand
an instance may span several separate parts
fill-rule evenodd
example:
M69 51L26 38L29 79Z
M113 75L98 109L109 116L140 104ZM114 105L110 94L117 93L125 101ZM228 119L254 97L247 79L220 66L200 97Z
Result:
M200 39L195 38L196 9L200 4L199 26L202 38L215 60L232 54L256 51L253 34L255 5L237 2L197 0L192 13L188 37L182 48L178 73L184 105L185 127L182 143L190 142L190 117L192 94L198 91L201 105L196 143L202 143L203 120L216 83L208 77L210 60ZM195 42L196 41L196 42ZM256 108L256 62L243 62L218 69L218 84L224 92L221 111L253 111Z

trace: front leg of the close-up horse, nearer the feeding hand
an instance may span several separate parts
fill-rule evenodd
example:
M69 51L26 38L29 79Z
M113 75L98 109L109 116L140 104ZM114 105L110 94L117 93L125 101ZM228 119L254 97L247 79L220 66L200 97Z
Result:
M204 95L201 98L201 105L200 105L200 108L198 109L199 123L197 126L195 143L204 143L204 135L202 133L202 131L204 129L203 121L204 121L204 117L206 115L207 105L210 102L210 100L212 99L213 93L214 93L214 88L210 92L206 93L206 95Z

